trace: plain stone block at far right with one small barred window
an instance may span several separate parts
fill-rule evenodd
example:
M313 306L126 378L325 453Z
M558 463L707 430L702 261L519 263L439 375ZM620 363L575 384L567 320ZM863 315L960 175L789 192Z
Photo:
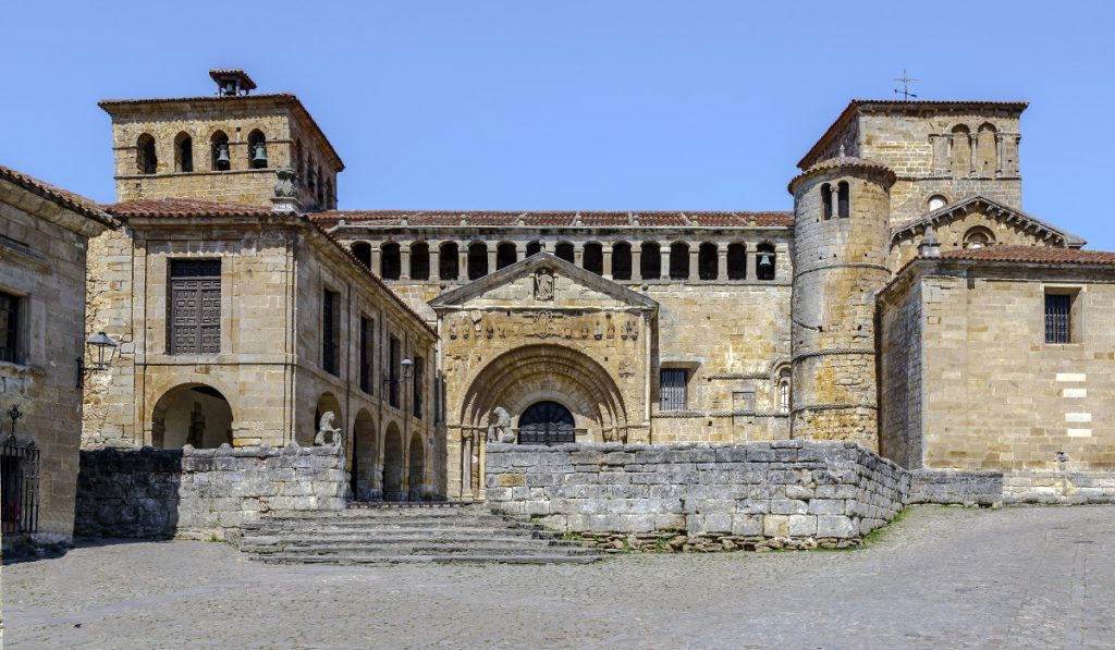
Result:
M1115 271L1080 255L1069 265L921 259L888 287L885 455L1057 481L1115 469ZM1046 342L1050 291L1074 295L1068 343Z

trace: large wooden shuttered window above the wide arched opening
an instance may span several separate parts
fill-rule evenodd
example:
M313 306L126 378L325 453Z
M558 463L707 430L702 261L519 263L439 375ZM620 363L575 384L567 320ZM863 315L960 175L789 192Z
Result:
M171 260L172 355L221 352L221 260Z

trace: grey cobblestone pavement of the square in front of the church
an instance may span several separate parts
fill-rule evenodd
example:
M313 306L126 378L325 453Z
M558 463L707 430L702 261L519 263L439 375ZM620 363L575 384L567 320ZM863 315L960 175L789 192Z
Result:
M866 549L288 567L223 544L3 567L18 648L1115 646L1115 506L922 506Z

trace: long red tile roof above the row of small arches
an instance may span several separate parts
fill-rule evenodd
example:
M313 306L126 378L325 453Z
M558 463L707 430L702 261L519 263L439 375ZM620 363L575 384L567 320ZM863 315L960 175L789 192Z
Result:
M496 212L331 210L310 219L324 225L345 220L369 226L552 226L552 227L789 227L792 212ZM405 223L404 223L405 222Z

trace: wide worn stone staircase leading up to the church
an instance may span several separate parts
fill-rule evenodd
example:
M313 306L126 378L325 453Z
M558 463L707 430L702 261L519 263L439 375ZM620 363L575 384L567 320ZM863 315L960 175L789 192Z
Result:
M351 503L341 512L270 516L240 550L271 564L589 563L600 552L484 504Z

